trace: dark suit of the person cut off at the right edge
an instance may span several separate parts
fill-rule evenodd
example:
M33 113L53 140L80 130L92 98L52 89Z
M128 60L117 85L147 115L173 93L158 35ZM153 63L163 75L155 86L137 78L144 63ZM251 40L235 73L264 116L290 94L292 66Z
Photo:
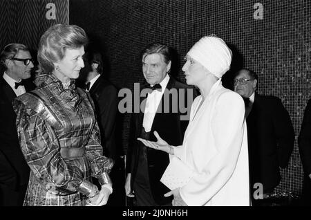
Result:
M302 201L303 205L311 205L311 99L303 114L298 145L304 171Z

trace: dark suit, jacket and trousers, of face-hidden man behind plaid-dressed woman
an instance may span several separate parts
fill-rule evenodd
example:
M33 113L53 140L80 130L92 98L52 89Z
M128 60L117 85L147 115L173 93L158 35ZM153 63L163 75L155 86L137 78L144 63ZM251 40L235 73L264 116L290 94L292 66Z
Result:
M115 165L110 176L113 181L113 194L109 196L107 205L124 205L124 169L120 159L121 152L115 143L115 127L117 116L117 89L103 75L97 78L89 93L95 104L95 113L100 127L101 142L104 155L113 158Z

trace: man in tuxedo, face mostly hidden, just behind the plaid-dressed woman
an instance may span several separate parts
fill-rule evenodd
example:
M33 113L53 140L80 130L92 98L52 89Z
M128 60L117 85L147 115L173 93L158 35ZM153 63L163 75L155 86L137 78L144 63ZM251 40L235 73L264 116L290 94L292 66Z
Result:
M115 127L117 116L117 89L103 75L103 62L100 53L87 53L85 56L86 84L85 88L91 95L95 104L95 113L100 127L101 143L104 147L104 155L113 158L115 165L110 176L113 181L113 194L109 196L106 205L124 205L122 195L122 163L120 151L115 143ZM124 181L123 181L124 182ZM124 203L123 203L124 202Z

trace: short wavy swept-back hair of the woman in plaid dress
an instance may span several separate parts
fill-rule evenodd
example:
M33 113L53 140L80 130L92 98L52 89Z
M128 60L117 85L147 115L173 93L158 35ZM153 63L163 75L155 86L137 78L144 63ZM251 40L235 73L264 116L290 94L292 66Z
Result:
M76 49L85 46L88 37L79 26L55 24L41 36L38 48L38 62L46 73L54 70L54 62L59 62L65 56L66 49Z

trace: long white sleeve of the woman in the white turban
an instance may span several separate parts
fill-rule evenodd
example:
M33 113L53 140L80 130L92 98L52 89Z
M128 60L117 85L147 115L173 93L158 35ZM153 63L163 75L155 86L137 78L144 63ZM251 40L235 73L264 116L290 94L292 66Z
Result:
M196 173L180 188L180 196L187 205L207 203L234 173L243 141L244 113L243 100L238 94L227 92L218 98L210 120L216 154L200 174Z

